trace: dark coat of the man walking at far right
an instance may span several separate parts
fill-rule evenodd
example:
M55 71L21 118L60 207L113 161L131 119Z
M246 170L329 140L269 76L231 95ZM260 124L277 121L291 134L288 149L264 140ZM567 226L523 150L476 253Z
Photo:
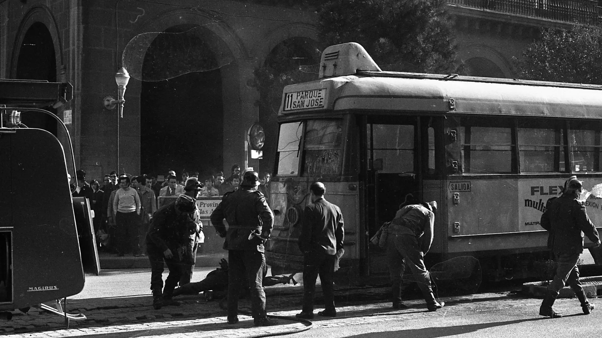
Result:
M598 241L598 230L589 220L585 203L573 194L554 198L541 216L541 226L548 230L548 248L554 253L583 253L583 234Z

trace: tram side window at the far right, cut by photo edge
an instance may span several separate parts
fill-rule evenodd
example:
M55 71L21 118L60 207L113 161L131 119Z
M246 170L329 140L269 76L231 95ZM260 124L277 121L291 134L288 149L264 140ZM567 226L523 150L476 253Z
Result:
M571 129L569 143L573 150L573 171L602 171L600 131Z

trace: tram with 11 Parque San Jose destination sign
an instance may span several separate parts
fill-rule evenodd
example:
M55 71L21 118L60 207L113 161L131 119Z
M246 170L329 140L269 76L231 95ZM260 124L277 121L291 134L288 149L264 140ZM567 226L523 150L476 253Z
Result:
M386 273L368 239L413 193L439 206L427 268L473 256L489 280L549 259L539 219L567 177L602 183L598 85L384 72L345 43L324 50L316 81L285 87L278 121L272 269L302 269L300 221L318 180L344 216L340 273ZM586 200L599 226L601 205Z

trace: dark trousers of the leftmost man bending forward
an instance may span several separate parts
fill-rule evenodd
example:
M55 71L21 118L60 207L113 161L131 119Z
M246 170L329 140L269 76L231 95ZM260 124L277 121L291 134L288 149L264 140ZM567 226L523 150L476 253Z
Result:
M165 291L167 295L171 295L182 277L182 264L179 261L178 253L172 250L173 257L167 259L163 250L152 241L146 241L146 249L151 262L151 290L163 289L163 260L165 260L167 269L169 269L169 275L165 278Z

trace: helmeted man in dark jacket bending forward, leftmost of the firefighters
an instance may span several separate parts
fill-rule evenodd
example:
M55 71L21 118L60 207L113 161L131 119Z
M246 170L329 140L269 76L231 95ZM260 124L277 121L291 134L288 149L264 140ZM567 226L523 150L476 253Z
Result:
M190 222L194 206L192 197L180 195L175 202L157 210L152 218L151 229L146 234L146 248L151 261L151 289L155 310L161 309L164 304L173 304L173 289L182 277L185 250L191 233L196 231L196 224ZM163 260L169 269L164 288Z

